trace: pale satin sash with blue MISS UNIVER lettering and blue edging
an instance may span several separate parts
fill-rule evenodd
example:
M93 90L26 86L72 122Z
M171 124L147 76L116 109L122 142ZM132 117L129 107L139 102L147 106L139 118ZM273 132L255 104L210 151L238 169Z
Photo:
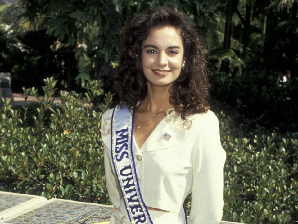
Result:
M127 214L132 224L153 224L143 201L133 157L133 122L135 110L116 106L111 121L111 156ZM186 211L185 206L183 209ZM186 219L187 220L187 219ZM187 221L186 221L187 223Z

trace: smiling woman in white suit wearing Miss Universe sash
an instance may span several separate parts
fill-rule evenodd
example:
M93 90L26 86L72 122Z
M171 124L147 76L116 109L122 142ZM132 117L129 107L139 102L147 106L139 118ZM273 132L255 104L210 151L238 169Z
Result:
M226 154L201 38L174 7L133 16L123 38L115 86L124 106L102 118L110 223L186 223L192 190L188 223L219 224Z

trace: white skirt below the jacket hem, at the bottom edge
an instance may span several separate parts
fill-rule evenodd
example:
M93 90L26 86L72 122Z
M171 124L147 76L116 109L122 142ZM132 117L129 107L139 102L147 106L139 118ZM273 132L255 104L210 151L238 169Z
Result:
M180 213L156 210L148 211L154 224L185 224L183 208L181 208ZM111 214L110 224L130 224L123 200L121 200L119 209L115 209L115 211Z

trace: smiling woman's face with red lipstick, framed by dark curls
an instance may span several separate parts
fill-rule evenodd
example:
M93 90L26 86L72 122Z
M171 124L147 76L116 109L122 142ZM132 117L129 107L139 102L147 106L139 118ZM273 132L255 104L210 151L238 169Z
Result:
M171 26L151 28L142 44L142 68L147 85L172 86L180 75L183 53L179 30Z

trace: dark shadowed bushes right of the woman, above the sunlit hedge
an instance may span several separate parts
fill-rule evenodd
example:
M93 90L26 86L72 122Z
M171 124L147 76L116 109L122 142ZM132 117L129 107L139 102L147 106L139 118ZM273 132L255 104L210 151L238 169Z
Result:
M217 73L210 78L211 94L249 125L278 127L281 132L297 130L298 79L282 82L283 76L278 72L257 70L236 77Z

